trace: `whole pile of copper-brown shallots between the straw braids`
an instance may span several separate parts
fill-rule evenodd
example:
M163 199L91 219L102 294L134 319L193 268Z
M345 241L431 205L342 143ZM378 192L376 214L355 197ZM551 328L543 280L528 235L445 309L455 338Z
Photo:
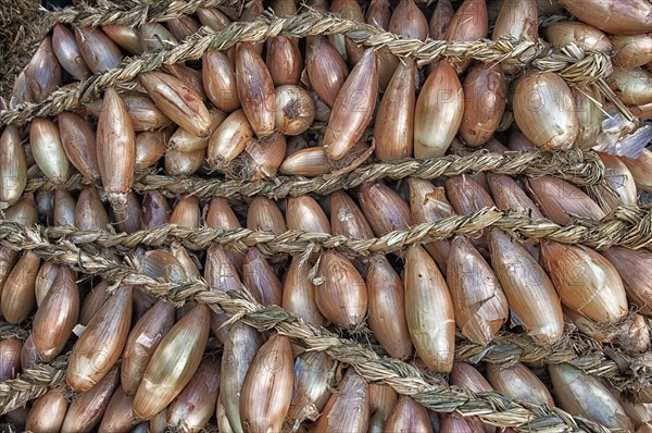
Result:
M535 0L503 1L491 26L484 0L455 8L447 0L431 8L414 0L364 7L313 0L308 7L402 38L512 37L555 50L574 44L602 52L613 63L606 84L644 121L652 113L652 5L560 3L578 20L567 16L544 28ZM138 28L57 24L16 78L9 102L1 102L10 109L41 102L60 87L118 67L127 55L178 46L200 26L220 32L253 21L266 5L252 1L241 13L200 8ZM293 1L269 5L279 16L301 13ZM606 108L595 85L570 86L554 72L456 58L421 65L344 35L299 40L280 34L142 72L129 86L108 88L74 111L7 126L0 135L0 208L5 221L98 233L176 224L353 239L491 207L556 224L578 216L598 221L638 205L639 189L652 191L649 150L638 158L597 152L606 183L594 190L561 177L476 173L365 182L325 197L253 196L236 205L221 197L137 194L134 184L158 171L178 178L274 181L474 148L589 150ZM71 187L76 174L84 180ZM39 178L51 190L25 193ZM92 252L121 260L113 248ZM488 346L509 331L550 348L570 327L644 357L652 319L649 249L595 250L488 227L368 257L338 248L293 257L265 252L217 243L195 250L173 240L136 247L129 261L152 279L202 279L213 290L240 292L305 323L364 338L379 356L446 375L473 393L496 391L519 403L556 406L615 430L645 432L652 425L650 387L632 399L573 363L455 360L461 342ZM0 380L70 350L64 381L75 395L50 388L8 413L8 422L79 432L195 432L214 424L222 432L499 431L476 417L428 412L325 352L304 351L283 333L259 332L216 306L173 306L138 285L111 283L0 246L3 321L29 323L24 342L0 341Z

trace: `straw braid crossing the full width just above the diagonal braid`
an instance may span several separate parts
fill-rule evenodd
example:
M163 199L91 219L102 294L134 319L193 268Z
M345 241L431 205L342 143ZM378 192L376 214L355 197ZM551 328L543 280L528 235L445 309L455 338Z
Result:
M341 235L287 231L279 235L249 228L188 228L164 224L131 234L110 234L99 230L77 230L72 226L24 227L0 221L0 243L14 249L29 250L41 246L35 238L49 243L65 243L86 250L115 247L128 252L138 245L160 246L175 239L190 249L206 249L222 245L246 252L258 247L266 256L276 253L310 253L337 248L349 256L389 253L412 244L426 244L455 235L466 235L486 227L499 227L534 239L551 239L563 244L581 244L604 249L612 246L641 248L652 245L652 208L622 207L602 221L575 219L570 224L559 225L548 220L532 220L524 214L482 208L469 215L453 215L434 223L419 223L404 231L390 232L368 239L352 239Z

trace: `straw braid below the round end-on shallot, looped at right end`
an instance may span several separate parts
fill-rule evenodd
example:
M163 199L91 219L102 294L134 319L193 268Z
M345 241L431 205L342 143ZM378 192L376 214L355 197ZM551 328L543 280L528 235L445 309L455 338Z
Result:
M134 189L138 193L156 189L170 197L191 194L199 198L228 197L241 199L263 195L279 199L304 194L329 195L339 189L351 189L364 182L381 178L400 180L418 177L435 180L440 176L456 176L462 173L492 172L506 175L561 177L577 186L604 183L604 165L590 151L579 149L564 151L527 150L521 152L486 153L473 152L460 157L449 154L426 160L402 159L364 165L349 173L326 174L305 178L277 176L273 181L241 182L237 180L208 177L179 177L145 173L136 176ZM87 181L79 175L71 176L67 189L79 189ZM27 182L26 191L53 190L58 187L46 178Z

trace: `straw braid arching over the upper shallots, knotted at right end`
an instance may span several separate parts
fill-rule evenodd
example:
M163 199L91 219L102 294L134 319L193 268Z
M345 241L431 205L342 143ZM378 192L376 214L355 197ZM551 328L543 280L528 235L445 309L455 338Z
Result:
M37 115L55 115L91 100L109 87L131 82L139 73L154 71L166 64L200 59L206 51L224 50L239 41L261 42L280 34L293 38L342 34L356 44L375 49L386 47L396 55L412 57L423 63L440 58L455 58L482 62L501 61L517 66L531 65L540 71L556 72L569 84L594 83L611 70L609 57L605 54L585 53L578 60L575 53L550 52L543 46L528 40L450 42L428 39L424 42L418 39L399 38L376 26L316 11L290 17L276 17L265 12L254 22L236 22L217 33L203 27L176 47L128 58L116 69L92 75L70 89L55 90L46 101L26 103L17 110L4 111L0 115L0 124L29 121ZM602 90L609 92L606 88ZM605 96L610 98L610 95Z

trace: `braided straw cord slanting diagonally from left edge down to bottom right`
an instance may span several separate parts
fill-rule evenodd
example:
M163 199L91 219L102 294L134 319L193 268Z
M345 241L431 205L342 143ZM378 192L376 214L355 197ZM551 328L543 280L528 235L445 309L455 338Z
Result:
M334 359L351 364L366 381L387 384L399 394L409 395L431 410L478 416L487 422L522 428L523 431L565 432L568 429L576 431L580 428L589 432L607 431L600 425L573 418L560 409L519 404L498 393L473 394L448 387L441 380L422 374L414 366L391 358L380 358L373 350L342 339L326 329L298 321L279 307L264 307L246 293L211 289L203 280L193 280L185 284L163 279L154 280L136 271L137 259L134 257L125 257L127 264L117 264L100 256L89 255L68 240L51 244L37 228L18 228L11 238L4 236L2 244L15 249L33 250L43 259L70 265L88 274L99 274L114 282L114 286L141 286L176 306L195 299L214 310L223 310L234 320L242 320L258 330L274 329L301 342L309 349L326 351ZM8 391L7 394L12 394L12 391ZM0 400L0 408L5 410L7 407L1 406L1 403Z

